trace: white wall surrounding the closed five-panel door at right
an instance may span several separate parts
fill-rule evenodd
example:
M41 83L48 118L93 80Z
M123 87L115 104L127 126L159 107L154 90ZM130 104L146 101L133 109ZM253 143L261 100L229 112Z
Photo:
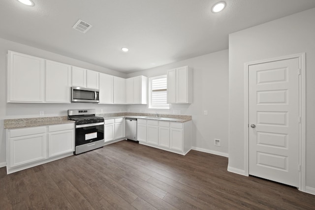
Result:
M315 187L314 23L310 9L229 35L229 167L244 171L244 63L305 52L306 186Z

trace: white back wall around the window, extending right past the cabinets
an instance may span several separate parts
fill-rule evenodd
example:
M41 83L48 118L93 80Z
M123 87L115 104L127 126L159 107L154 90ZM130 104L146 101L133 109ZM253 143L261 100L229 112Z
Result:
M228 152L228 50L182 60L164 66L128 74L128 77L165 75L168 69L188 65L193 68L192 104L172 104L170 110L149 110L148 105L128 105L127 111L192 116L192 146L197 150L227 156ZM204 110L208 115L204 115ZM221 147L214 146L214 139Z

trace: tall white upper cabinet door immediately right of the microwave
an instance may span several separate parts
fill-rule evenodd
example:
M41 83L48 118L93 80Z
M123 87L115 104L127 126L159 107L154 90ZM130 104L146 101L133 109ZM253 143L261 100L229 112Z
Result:
M113 102L113 76L99 73L99 103L112 104Z

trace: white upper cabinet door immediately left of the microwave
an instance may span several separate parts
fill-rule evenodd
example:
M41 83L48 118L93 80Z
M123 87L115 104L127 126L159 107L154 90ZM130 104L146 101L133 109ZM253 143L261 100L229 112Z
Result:
M70 103L71 66L46 61L46 102Z

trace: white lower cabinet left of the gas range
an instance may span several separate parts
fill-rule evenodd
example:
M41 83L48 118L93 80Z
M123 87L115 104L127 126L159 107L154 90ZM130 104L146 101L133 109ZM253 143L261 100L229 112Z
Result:
M73 155L74 123L8 129L7 174Z

